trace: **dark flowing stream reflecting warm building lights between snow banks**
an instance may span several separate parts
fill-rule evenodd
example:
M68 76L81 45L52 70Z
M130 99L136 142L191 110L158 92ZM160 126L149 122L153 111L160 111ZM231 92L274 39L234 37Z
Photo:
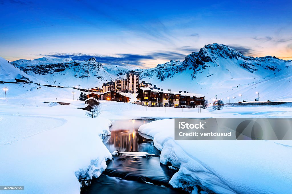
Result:
M119 150L119 156L107 162L102 175L81 189L81 193L185 193L168 184L176 172L159 163L160 152L153 146L152 137L138 132L148 120L115 120L111 136L103 143L112 153Z

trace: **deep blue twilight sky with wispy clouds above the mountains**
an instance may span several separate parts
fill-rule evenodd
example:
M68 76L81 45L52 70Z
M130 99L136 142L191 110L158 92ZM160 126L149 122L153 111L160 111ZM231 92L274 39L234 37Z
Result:
M0 0L0 56L153 67L204 45L292 59L292 1Z

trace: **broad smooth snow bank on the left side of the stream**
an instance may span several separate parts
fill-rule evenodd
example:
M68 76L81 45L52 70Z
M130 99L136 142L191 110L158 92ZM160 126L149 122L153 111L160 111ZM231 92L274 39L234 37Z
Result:
M102 143L112 122L77 109L84 101L72 100L72 89L8 87L0 98L0 184L24 186L22 193L80 193L79 179L100 176L112 159ZM54 98L71 104L43 103Z

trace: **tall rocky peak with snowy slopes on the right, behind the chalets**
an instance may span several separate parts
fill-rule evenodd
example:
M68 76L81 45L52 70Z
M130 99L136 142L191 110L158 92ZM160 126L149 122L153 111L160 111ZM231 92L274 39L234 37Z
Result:
M239 94L244 100L254 100L256 92L262 93L261 100L292 97L291 60L246 57L225 45L212 44L188 55L181 64L164 65L140 73L159 88L202 93L209 100L215 95L225 99Z

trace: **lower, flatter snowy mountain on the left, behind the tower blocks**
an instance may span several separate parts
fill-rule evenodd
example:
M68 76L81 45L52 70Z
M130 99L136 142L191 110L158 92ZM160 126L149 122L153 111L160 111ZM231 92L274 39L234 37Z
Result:
M100 86L112 79L112 75L95 58L79 61L72 58L43 57L34 60L20 59L12 64L29 75L51 84L56 81L55 85L66 87L89 88Z

